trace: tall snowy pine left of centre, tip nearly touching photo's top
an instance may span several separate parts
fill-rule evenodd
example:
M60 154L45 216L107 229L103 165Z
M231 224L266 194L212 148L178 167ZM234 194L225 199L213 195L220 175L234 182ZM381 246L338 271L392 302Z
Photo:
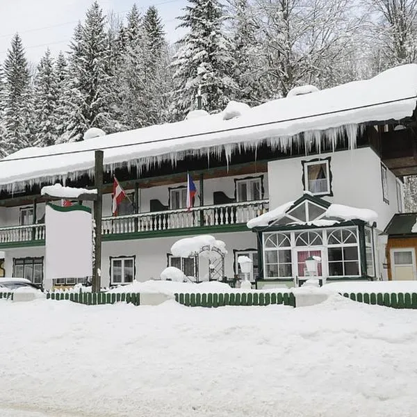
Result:
M106 72L108 43L105 17L94 1L87 11L85 24L79 24L70 45L70 88L72 115L67 128L68 140L82 140L92 126L105 129L108 124L108 85Z

